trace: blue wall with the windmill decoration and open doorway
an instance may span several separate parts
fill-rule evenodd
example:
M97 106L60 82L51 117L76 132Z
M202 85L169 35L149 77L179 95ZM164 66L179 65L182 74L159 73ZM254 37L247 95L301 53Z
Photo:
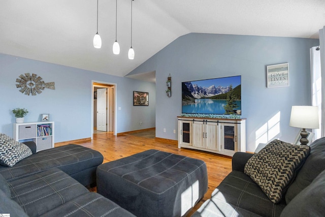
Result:
M55 90L27 96L16 88L16 79L34 73L44 82L55 82ZM29 113L25 122L40 121L40 114L49 113L55 121L55 142L91 137L92 80L116 84L117 133L155 127L155 84L111 76L42 61L0 54L0 132L13 136L17 107ZM149 106L133 106L133 91L149 92ZM140 121L143 124L140 126Z

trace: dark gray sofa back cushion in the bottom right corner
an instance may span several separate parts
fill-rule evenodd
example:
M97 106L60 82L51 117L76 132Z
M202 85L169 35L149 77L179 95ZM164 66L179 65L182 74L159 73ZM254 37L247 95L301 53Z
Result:
M324 216L325 170L283 209L283 217Z

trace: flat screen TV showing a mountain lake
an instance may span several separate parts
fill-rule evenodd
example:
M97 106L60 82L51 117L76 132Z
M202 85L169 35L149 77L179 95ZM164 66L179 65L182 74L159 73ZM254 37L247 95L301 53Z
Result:
M241 115L241 76L182 82L182 113Z

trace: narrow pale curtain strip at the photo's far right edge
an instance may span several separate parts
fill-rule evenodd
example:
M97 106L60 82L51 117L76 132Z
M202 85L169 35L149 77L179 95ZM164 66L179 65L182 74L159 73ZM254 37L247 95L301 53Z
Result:
M325 96L325 26L319 29L319 51L320 51L320 76L321 76L321 96ZM322 100L321 108L321 137L325 136L325 100Z

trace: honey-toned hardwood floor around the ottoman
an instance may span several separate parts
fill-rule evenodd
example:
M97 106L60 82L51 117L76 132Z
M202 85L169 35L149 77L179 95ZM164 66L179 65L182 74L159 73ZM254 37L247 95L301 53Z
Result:
M211 197L212 191L232 170L231 157L199 150L178 149L174 140L150 139L133 135L113 136L111 133L101 133L94 134L93 140L89 142L77 142L76 144L100 151L104 156L103 163L128 157L148 149L157 149L203 160L208 169L208 192L187 216L190 216L204 201Z

